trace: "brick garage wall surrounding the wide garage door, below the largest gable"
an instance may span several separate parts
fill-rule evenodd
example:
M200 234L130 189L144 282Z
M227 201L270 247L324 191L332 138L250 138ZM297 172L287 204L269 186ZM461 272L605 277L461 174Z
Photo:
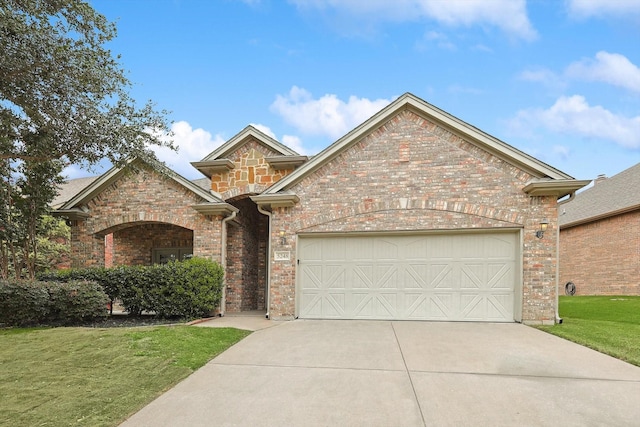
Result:
M273 214L273 251L296 253L299 232L523 229L522 318L555 317L556 201L522 191L532 177L403 111L310 174L300 202ZM542 218L547 237L537 239ZM286 244L281 244L280 233ZM295 313L295 256L272 263L272 317Z

